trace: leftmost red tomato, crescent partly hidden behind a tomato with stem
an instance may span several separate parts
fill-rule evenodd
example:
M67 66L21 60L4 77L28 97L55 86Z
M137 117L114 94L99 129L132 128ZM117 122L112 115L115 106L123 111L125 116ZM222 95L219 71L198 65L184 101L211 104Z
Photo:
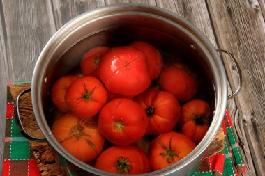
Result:
M64 96L66 95L66 90L70 83L72 83L77 78L79 77L76 75L66 75L57 79L52 86L52 102L61 111L70 111L68 105L66 104L66 99L64 98Z

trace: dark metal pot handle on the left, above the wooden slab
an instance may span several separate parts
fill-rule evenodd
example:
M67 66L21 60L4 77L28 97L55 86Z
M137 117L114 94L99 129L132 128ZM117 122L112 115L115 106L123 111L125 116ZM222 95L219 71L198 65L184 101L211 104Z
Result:
M20 118L20 109L19 109L19 105L18 102L20 100L20 97L22 95L24 95L25 93L29 92L31 90L31 88L27 88L25 90L23 90L18 96L17 99L15 100L15 104L14 104L14 117L15 117L15 122L17 123L17 127L20 130L20 132L23 134L24 137L28 138L31 141L36 141L36 142L47 142L46 138L36 138L34 136L31 136L27 133L27 131L24 129L23 124L22 124L22 120Z

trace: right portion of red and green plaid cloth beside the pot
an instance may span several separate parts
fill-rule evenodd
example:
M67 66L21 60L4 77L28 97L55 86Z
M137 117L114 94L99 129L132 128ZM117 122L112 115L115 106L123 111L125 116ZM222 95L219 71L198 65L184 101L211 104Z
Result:
M236 133L228 110L225 111L225 118L222 121L222 131L225 135L224 149L217 154L202 159L202 163L194 174L195 176L230 176L245 173L240 145L236 140Z

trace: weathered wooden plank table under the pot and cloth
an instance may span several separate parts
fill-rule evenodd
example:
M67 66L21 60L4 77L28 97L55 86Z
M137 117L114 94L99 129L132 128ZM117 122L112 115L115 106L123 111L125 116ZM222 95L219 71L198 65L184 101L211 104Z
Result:
M0 1L0 158L3 158L6 83L31 80L38 55L52 35L77 15L111 3L149 3L197 26L216 48L234 54L243 74L239 95L227 102L241 141L247 173L265 173L265 1L264 0L56 0ZM237 75L222 56L229 84ZM0 170L2 164L0 166Z

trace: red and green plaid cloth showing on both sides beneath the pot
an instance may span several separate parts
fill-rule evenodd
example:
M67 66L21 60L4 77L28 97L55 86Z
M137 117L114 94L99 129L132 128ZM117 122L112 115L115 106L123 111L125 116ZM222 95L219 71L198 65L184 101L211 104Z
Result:
M21 83L25 82L15 82L12 84ZM40 171L31 152L29 141L22 136L17 128L13 113L14 99L10 93L10 87L7 86L6 135L2 176L40 176ZM240 146L236 140L229 111L226 111L225 118L222 122L222 131L225 135L225 147L220 152L209 157L204 157L196 173L194 173L195 176L230 176L245 173L245 165L241 157Z

